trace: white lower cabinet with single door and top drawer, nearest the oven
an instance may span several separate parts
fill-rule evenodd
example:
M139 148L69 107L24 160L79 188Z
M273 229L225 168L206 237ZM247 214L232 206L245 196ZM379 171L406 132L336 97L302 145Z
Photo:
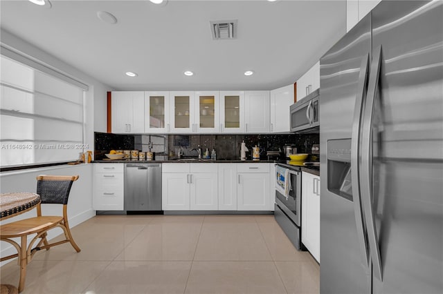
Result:
M269 164L237 164L237 210L269 210Z

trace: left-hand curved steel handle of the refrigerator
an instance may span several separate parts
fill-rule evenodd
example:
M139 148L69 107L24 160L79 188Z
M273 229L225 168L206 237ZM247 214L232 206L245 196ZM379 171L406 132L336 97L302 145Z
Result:
M359 174L359 158L361 156L361 114L363 110L363 97L366 95L368 85L368 63L369 54L361 60L359 84L357 85L357 95L354 108L354 119L352 121L352 141L351 141L351 179L352 179L352 198L354 202L354 215L357 227L357 235L361 248L363 266L369 266L368 242L365 235L365 226L363 219L363 211L361 208L360 194L360 174Z

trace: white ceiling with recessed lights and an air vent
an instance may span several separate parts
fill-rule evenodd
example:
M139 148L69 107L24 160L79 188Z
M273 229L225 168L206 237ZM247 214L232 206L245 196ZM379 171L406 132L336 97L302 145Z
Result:
M1 28L114 90L271 90L345 34L346 1L0 1ZM98 19L114 14L112 25ZM214 41L210 21L238 20ZM195 75L186 77L183 71ZM251 77L243 75L253 70ZM138 77L130 78L125 72Z

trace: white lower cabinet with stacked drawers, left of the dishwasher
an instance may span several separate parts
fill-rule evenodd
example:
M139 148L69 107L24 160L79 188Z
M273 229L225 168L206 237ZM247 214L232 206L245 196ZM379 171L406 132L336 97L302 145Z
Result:
M92 208L123 210L123 164L94 164Z

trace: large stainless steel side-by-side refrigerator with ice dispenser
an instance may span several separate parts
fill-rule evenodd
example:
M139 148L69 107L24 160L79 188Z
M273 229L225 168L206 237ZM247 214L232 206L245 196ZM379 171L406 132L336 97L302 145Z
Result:
M320 293L443 293L443 1L381 1L320 59Z

